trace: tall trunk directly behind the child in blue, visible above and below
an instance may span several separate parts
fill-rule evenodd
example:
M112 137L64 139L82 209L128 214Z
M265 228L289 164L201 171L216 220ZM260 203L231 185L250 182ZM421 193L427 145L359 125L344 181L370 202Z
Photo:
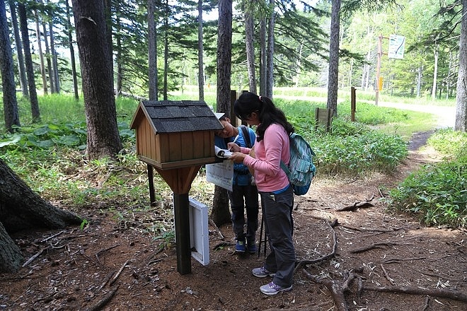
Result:
M217 112L230 117L232 0L219 0L217 31ZM214 187L211 218L217 225L231 221L227 191L218 186Z

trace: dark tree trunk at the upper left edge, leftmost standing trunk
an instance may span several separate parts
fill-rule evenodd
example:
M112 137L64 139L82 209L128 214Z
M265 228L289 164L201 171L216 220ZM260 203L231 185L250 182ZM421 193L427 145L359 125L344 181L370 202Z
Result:
M18 101L16 100L15 75L13 74L13 55L8 37L5 2L0 1L0 73L3 86L5 128L13 132L13 125L20 126Z

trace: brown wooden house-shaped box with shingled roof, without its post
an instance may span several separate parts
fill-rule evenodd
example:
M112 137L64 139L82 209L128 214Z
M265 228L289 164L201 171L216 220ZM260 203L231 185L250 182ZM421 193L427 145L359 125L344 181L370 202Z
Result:
M162 170L213 163L214 131L222 129L204 101L142 101L134 114L139 160Z

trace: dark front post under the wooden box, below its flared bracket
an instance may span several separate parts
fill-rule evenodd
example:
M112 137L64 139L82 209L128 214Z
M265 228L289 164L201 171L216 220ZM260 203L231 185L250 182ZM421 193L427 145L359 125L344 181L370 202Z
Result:
M175 244L177 249L177 271L180 274L191 273L191 243L188 193L173 194L175 210Z

